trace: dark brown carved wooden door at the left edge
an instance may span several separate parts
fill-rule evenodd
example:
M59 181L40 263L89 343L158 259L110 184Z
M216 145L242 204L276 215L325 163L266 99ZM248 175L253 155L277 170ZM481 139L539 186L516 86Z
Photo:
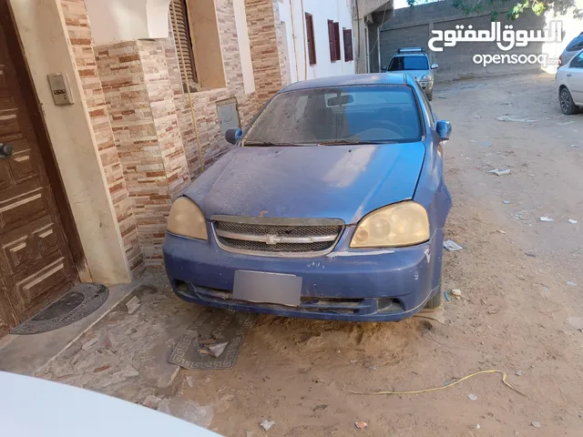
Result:
M0 335L78 280L21 89L27 72L5 32L0 24Z

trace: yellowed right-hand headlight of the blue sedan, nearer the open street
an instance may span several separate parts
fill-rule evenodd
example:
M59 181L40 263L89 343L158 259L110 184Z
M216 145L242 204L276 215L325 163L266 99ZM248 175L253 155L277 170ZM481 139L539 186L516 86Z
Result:
M351 248L399 248L429 239L427 211L409 201L379 208L365 216L353 235Z

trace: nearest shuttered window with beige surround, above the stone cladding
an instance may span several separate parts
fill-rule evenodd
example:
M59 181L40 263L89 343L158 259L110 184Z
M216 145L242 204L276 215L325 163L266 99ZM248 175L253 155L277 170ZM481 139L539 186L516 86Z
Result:
M226 86L214 0L170 0L169 9L184 89Z

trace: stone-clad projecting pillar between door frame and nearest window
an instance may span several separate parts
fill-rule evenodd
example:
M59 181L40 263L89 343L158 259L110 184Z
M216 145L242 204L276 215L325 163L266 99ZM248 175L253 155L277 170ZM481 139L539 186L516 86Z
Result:
M97 67L147 266L162 263L173 198L190 182L163 41L97 47Z

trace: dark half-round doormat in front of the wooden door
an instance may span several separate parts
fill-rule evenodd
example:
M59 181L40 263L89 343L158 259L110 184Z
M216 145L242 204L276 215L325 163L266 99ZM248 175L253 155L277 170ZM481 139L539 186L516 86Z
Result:
M12 334L38 334L56 330L87 317L107 300L109 290L101 284L77 284L44 310L23 321Z

